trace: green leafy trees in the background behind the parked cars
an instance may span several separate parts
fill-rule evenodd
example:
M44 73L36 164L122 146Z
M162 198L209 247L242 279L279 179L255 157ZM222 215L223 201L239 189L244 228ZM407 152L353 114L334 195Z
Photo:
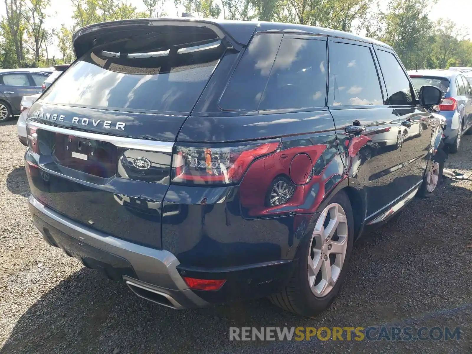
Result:
M131 0L64 0L73 8L73 25L52 31L44 27L51 0L1 0L0 67L36 67L74 59L72 34L103 21L167 16L167 3L197 17L278 21L366 34L391 45L407 69L472 66L472 42L454 22L429 17L437 0L142 0L145 12ZM385 4L385 0L382 4ZM59 51L59 58L51 53ZM53 54L53 55L52 55Z

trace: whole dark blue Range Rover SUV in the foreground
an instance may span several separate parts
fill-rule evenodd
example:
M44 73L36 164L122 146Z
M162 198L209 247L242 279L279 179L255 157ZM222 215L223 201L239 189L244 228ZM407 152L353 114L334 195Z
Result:
M49 244L148 300L315 315L362 232L438 185L441 93L382 42L188 18L73 41L26 121L29 207Z

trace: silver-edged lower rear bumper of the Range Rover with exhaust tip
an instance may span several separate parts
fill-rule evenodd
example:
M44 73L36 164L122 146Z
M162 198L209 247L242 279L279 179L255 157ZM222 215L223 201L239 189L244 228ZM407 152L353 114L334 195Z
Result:
M208 304L185 284L176 268L180 262L169 251L87 228L53 211L33 195L28 202L34 224L49 244L62 248L85 266L101 270L109 278L123 278L136 295L175 309Z

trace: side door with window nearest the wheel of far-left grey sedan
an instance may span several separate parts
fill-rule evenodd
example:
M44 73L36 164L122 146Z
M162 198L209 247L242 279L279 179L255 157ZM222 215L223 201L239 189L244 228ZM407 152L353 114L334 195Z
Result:
M10 102L14 114L20 111L23 96L37 93L27 72L7 73L0 76L0 90Z

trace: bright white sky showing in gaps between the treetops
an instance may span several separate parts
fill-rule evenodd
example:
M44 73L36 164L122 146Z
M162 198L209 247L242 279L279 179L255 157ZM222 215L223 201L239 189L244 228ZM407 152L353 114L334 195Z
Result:
M142 0L129 0L138 11L146 11L146 7ZM387 4L388 0L379 0L380 3ZM167 7L164 9L169 15L176 15L176 8L173 1L168 1ZM183 8L179 9L179 13ZM5 15L5 6L0 6L0 15ZM69 0L51 0L51 8L48 14L48 21L46 27L59 28L62 23L66 26L73 24L72 6ZM439 18L453 20L459 28L462 28L463 33L467 38L472 38L472 0L438 0L437 4L431 8L430 18L435 21ZM48 47L49 48L49 47ZM54 53L54 46L50 48ZM59 51L56 49L59 54Z

